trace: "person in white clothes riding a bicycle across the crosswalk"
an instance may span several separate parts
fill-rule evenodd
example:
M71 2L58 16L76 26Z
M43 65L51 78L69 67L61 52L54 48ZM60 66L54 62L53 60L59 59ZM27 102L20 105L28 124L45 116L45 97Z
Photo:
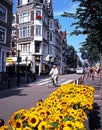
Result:
M49 75L51 75L51 77L52 77L53 85L57 86L57 83L58 83L58 68L55 64L51 68Z

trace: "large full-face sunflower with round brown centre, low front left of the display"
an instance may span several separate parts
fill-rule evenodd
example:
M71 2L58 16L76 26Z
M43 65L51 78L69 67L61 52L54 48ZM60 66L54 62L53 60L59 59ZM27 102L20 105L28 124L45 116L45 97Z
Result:
M37 115L32 115L30 114L29 115L29 118L28 118L28 124L31 126L31 127L36 127L39 123L39 118Z

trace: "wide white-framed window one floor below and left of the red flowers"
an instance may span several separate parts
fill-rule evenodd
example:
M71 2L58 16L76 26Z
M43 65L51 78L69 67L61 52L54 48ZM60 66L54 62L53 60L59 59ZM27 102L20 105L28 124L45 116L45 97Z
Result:
M20 33L19 33L20 38L26 38L30 36L30 27L23 27L20 28Z

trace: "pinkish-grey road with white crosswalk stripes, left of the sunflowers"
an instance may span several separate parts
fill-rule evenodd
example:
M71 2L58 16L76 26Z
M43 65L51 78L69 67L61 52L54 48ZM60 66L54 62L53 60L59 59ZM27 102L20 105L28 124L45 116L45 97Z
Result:
M76 80L81 75L69 74L59 76L59 84ZM38 78L36 82L24 86L6 89L0 92L0 118L6 122L9 117L19 109L29 109L38 99L45 99L57 87L48 88L50 77Z

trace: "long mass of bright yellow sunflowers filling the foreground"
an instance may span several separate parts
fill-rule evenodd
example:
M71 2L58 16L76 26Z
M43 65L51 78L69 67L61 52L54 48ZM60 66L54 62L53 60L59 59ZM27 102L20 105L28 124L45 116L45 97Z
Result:
M92 86L65 84L29 110L16 111L2 130L86 130L93 110Z

